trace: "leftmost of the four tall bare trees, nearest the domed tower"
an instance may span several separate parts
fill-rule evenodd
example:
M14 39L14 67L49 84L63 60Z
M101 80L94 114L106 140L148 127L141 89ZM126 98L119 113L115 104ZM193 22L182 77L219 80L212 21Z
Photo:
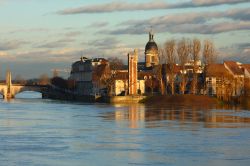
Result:
M168 78L171 88L171 94L175 93L175 66L176 66L176 44L175 40L167 41L164 44L163 51L164 59L166 60L166 79Z

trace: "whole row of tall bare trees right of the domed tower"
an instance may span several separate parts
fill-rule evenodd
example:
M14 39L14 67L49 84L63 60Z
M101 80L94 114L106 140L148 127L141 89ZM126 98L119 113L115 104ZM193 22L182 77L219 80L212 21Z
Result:
M212 41L205 40L203 44L199 39L181 39L179 41L169 40L166 41L162 48L159 50L159 61L165 64L166 67L162 68L161 73L157 74L161 78L161 93L162 94L175 94L175 80L176 80L176 64L181 69L179 93L185 94L187 84L190 83L191 94L198 93L198 70L201 61L204 64L204 78L206 75L206 66L214 63L217 59L217 53ZM192 62L192 73L186 73L186 64ZM165 70L165 71L164 71ZM191 82L189 82L191 81ZM204 80L203 80L204 81ZM205 88L205 81L204 87ZM168 88L169 87L169 88ZM169 89L169 90L168 90Z

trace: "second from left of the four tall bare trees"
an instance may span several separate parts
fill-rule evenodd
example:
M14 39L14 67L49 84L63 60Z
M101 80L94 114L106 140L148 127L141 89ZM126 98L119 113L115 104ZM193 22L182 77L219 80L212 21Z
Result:
M186 90L186 85L187 85L187 75L186 75L186 70L185 70L185 64L188 61L188 56L189 56L189 46L188 42L186 39L182 39L178 43L178 48L177 48L177 55L178 55L178 60L181 66L181 83L180 83L180 92L182 94L185 93Z

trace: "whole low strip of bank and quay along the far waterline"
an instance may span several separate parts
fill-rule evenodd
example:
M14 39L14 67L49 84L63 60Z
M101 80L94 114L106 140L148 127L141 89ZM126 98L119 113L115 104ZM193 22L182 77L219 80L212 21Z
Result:
M151 96L114 96L108 98L95 99L93 96L76 96L61 91L54 91L54 93L47 94L43 98L66 100L66 101L78 101L87 103L141 103L152 106L169 106L169 105L190 105L190 106L204 106L204 107L221 107L221 106L240 106L246 109L250 108L250 97L242 96L241 102L226 102L218 99L217 97L211 97L206 95L195 94L175 94L175 95L151 95Z

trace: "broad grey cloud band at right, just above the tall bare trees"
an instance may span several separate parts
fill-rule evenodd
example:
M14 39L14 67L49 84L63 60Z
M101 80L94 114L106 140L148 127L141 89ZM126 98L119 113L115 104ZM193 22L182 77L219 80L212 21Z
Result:
M250 30L250 9L234 9L224 12L191 12L153 17L145 20L129 20L115 30L99 33L113 35L144 34L153 26L156 32L216 34L236 30ZM249 19L249 20L247 20Z

